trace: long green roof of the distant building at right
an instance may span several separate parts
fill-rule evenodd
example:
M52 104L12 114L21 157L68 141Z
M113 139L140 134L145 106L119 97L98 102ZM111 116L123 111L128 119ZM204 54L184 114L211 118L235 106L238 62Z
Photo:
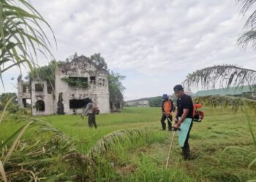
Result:
M196 96L208 96L208 95L241 95L246 92L253 92L252 85L246 85L241 87L229 87L222 89L212 90L200 90L195 93Z

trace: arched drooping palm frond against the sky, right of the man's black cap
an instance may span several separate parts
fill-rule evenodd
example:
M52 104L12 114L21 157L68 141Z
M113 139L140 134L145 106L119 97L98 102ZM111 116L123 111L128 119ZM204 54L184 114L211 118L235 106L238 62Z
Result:
M256 71L233 65L211 66L187 75L182 83L184 87L238 87L256 84Z

